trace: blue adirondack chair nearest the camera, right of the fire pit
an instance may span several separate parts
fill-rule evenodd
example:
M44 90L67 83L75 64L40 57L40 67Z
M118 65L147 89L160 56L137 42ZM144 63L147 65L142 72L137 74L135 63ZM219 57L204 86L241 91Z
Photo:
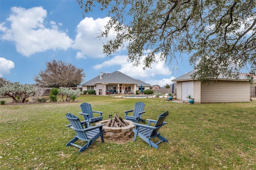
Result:
M162 113L159 117L158 120L151 120L151 119L146 119L146 121L148 121L148 125L142 125L139 123L134 123L135 128L132 129L132 131L134 132L134 139L133 141L136 141L136 137L137 135L143 139L146 143L148 143L150 145L150 147L154 147L156 149L158 149L158 144L161 142L168 142L167 139L165 139L164 137L162 137L160 135L160 133L158 132L160 127L162 127L164 124L166 124L166 122L164 122L165 118L168 116L168 111L165 111L164 113ZM155 123L154 126L150 126L150 123ZM158 137L160 139L160 141L158 141L157 143L154 143L153 141L151 141L150 139L153 139L154 137Z

